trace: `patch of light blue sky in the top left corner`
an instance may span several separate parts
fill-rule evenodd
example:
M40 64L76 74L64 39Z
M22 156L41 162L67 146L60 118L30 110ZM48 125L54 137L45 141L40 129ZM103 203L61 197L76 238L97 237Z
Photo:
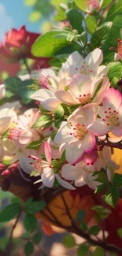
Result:
M0 0L0 40L4 33L11 28L20 28L26 25L28 31L40 32L40 22L31 23L28 21L31 7L24 6L24 0Z

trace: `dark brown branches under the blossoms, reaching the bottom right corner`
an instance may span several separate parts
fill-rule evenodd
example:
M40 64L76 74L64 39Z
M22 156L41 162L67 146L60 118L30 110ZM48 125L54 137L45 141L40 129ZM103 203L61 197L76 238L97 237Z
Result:
M17 163L14 165L9 166L9 168L5 171L0 171L0 187L2 187L2 189L4 191L10 191L13 193L13 195L16 195L17 197L23 199L24 201L26 201L28 198L30 198L31 196L34 197L34 199L38 199L41 200L42 199L42 194L41 191L39 193L38 187L36 187L35 185L33 185L33 182L28 182L27 180L24 180L24 178L22 176L20 176L20 172L17 168ZM72 226L68 227L68 226L64 226L63 224L61 224L61 222L58 220L57 221L57 217L55 218L55 215L51 212L51 216L52 218L54 218L54 220L51 217L48 217L48 214L45 213L45 210L43 210L43 212L41 212L41 216L45 217L46 220L49 220L50 223L54 223L55 225L57 225L58 227L67 229L68 232L74 232L77 235L83 237L84 239L87 240L88 243L94 245L94 246L99 246L104 248L105 250L108 251L112 251L112 252L118 252L122 254L122 249L120 249L119 247L116 247L114 245L111 244L106 244L104 243L104 241L97 241L91 238L91 236L89 236L89 234L82 232L82 230L79 228L78 224L76 224L76 221L74 221L72 219L72 215L70 213L70 210L68 209L67 203L65 202L65 198L64 195L61 193L60 189L57 189L57 193L54 195L53 193L54 190L46 190L46 194L44 195L44 199L46 199L47 202L47 208L46 211L49 210L48 208L48 202L51 201L51 199L54 197L56 197L57 195L61 195L62 201L65 205L65 209L67 211L68 214L68 218L72 223ZM52 200L53 200L52 199ZM17 219L20 216L17 217ZM13 229L11 231L11 235L10 235L10 240L11 240L11 236L13 236L13 230L15 225L17 224L17 221L15 222Z

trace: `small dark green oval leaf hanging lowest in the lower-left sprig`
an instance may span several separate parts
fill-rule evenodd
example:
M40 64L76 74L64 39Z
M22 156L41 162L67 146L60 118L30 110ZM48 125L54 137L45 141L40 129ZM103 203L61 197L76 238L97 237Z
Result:
M28 233L34 232L36 228L36 217L32 214L26 214L24 219L24 227Z

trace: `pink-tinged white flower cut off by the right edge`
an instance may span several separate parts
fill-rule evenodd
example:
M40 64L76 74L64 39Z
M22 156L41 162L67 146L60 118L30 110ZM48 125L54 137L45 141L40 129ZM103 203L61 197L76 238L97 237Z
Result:
M122 95L120 91L110 88L105 92L102 105L98 112L101 118L91 125L91 132L96 135L105 135L113 132L120 137L122 135Z

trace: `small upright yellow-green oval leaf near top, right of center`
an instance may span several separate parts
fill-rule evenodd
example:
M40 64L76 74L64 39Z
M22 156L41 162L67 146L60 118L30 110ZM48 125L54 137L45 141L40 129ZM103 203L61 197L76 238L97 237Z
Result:
M87 14L85 17L85 23L87 27L87 32L92 35L94 34L96 28L97 28L97 20L94 16Z

